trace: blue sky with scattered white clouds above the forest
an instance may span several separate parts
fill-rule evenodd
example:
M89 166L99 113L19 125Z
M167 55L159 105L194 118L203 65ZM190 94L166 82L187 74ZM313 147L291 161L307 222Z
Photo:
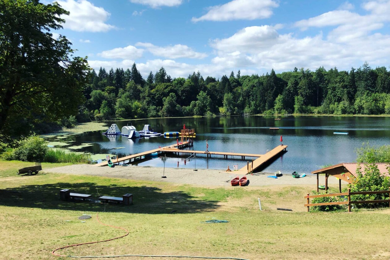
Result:
M42 1L48 3L48 1ZM390 65L390 0L58 0L63 30L100 66L144 77ZM212 4L211 4L212 3ZM53 37L56 37L54 34Z

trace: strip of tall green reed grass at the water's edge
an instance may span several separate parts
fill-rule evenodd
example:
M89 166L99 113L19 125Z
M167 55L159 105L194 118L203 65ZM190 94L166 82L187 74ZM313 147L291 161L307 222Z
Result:
M90 163L90 154L50 149L43 159L46 163Z

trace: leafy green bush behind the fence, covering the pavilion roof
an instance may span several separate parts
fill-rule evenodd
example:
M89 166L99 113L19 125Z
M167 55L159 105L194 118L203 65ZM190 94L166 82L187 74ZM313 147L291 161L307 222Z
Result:
M360 191L386 191L390 187L390 177L383 176L376 164L365 164L364 175L362 168L358 165L356 169L357 178L355 182L349 185L351 192ZM388 193L351 195L351 200L386 200ZM358 208L374 208L388 206L388 203L364 203L356 204Z

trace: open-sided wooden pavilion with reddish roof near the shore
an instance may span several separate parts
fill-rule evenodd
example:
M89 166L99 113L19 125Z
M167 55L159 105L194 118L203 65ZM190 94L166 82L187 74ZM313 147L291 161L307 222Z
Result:
M336 177L339 179L339 189L341 192L341 180L344 180L348 182L348 184L351 184L357 177L356 174L356 168L359 163L339 163L335 164L326 168L322 168L319 170L316 170L312 172L312 174L317 174L317 192L318 192L318 175L320 173L325 173L325 191L328 191L328 177L332 175L333 177ZM364 175L364 165L366 163L360 163L361 166L361 172ZM375 163L376 166L378 166L379 172L383 175L389 175L389 170L387 169L390 167L389 163Z

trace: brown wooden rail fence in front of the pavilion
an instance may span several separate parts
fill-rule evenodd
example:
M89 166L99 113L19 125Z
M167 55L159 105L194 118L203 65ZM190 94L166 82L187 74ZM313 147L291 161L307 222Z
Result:
M351 201L351 195L383 194L383 193L388 193L388 195L389 195L389 199L388 200L358 200L358 201ZM336 196L347 196L348 200L346 200L346 201L339 201L339 202L310 203L310 198L323 198L323 197L336 197ZM359 192L351 192L351 189L348 189L348 192L330 193L330 194L321 194L321 195L312 195L312 196L310 196L310 194L307 193L307 196L305 196L305 198L307 198L307 204L305 204L305 207L307 207L307 212L309 212L309 207L312 207L312 206L342 205L342 204L348 204L348 212L351 212L351 204L389 202L389 207L390 207L390 187L389 187L388 191L359 191Z

